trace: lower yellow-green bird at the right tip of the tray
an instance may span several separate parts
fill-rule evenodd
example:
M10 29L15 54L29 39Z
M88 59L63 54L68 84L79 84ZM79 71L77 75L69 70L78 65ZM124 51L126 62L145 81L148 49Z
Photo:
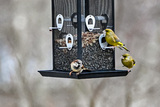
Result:
M129 68L128 72L131 71L131 68L135 66L136 63L128 53L122 55L121 62L125 67Z

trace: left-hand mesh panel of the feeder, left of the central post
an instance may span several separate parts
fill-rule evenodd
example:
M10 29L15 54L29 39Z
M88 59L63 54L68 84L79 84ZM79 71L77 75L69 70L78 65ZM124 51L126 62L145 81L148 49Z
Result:
M58 14L62 14L64 19L71 20L71 15L77 11L77 0L54 0L54 19ZM55 20L54 20L55 21ZM72 50L59 49L59 47L66 47L65 37L70 33L73 36L77 30L72 26L71 21L64 21L62 31L54 30L55 47L54 47L54 66L56 70L70 70L70 63L77 58L77 47L74 36L74 47Z

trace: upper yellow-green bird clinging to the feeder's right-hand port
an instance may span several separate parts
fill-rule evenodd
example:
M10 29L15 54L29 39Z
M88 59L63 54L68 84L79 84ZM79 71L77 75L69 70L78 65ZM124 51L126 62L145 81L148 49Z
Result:
M129 52L129 50L124 46L124 44L120 41L120 39L116 36L116 34L113 32L112 29L105 29L104 30L105 33L105 39L106 42L112 46L117 46L118 48L120 48L122 50L122 48L124 48L126 51Z

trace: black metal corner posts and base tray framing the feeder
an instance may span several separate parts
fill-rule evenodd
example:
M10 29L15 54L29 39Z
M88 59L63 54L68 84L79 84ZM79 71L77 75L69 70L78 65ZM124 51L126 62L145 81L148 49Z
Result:
M52 7L52 27L55 26L54 23L54 0L51 0L51 7ZM89 8L89 0L85 0L85 8ZM113 11L113 26L112 29L114 30L114 0L112 0L112 11ZM89 9L85 10L85 17L89 14ZM81 0L77 0L77 59L82 59L82 40L81 40L81 34L82 34L82 25L81 25ZM86 28L87 29L87 28ZM52 54L53 54L53 69L52 70L40 70L38 71L42 76L47 77L60 77L60 78L74 78L74 79L88 79L88 78L102 78L102 77L117 77L117 76L126 76L128 74L128 70L115 70L115 51L113 52L113 67L114 70L98 70L98 71L83 71L79 75L76 75L76 73L73 73L72 76L69 76L70 71L61 71L55 69L55 44L54 44L55 38L54 38L54 30L52 32Z

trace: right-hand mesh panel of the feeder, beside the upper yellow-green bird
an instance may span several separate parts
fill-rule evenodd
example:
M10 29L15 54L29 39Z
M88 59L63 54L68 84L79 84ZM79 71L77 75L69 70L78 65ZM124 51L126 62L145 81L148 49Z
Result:
M112 12L112 0L89 0L89 15L94 17L106 14L108 16L108 24L106 26L113 28L113 12ZM114 50L106 49L102 50L99 45L98 37L104 29L100 20L96 20L95 28L99 30L93 30L94 33L85 32L91 35L91 43L83 47L83 63L91 70L109 70L114 69ZM96 36L98 35L98 37ZM96 42L94 41L96 40ZM84 41L87 42L87 41Z

